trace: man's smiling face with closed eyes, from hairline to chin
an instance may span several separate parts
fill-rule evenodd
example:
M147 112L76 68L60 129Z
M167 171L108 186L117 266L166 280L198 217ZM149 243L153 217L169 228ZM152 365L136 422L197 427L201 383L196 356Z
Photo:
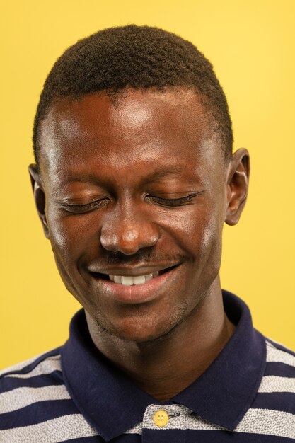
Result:
M42 123L57 267L88 316L120 338L168 333L218 279L226 168L209 126L195 93L134 90L64 100Z

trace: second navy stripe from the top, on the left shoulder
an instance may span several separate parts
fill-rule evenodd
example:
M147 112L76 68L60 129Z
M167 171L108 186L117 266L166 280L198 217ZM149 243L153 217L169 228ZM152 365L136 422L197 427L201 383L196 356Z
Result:
M0 394L12 391L13 389L23 388L28 386L30 388L41 388L43 386L52 386L58 384L64 384L61 371L54 371L51 374L45 374L45 375L36 375L30 377L29 379L18 379L7 376L1 381Z

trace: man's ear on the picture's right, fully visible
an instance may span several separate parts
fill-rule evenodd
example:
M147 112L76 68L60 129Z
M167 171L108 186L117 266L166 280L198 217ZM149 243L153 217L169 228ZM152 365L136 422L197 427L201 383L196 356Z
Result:
M247 149L238 149L229 163L226 180L226 218L227 224L237 224L248 195L250 159Z

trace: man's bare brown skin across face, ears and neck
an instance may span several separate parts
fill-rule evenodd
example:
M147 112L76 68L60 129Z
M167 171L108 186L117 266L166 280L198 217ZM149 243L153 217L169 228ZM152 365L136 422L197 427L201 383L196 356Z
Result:
M234 330L221 298L221 234L245 205L249 160L239 149L225 162L210 127L192 91L64 99L42 122L40 173L29 168L93 342L158 400L202 374ZM107 280L157 270L141 286Z

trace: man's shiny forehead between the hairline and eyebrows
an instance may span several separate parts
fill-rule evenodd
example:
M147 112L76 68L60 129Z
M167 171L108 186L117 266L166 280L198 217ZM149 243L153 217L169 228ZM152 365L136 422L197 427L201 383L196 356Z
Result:
M220 162L210 120L197 94L185 90L60 100L41 125L41 171L78 173L91 169L94 157L110 165L120 158L120 166L130 161L185 165L196 155L199 161L209 156Z

